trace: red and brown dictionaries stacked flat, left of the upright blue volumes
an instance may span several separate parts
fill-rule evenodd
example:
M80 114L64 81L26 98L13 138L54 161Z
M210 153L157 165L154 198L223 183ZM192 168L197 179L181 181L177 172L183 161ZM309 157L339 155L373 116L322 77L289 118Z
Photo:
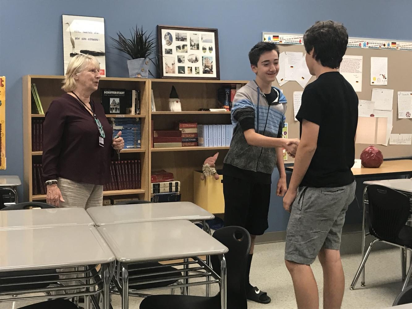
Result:
M177 122L174 130L155 130L152 120L152 147L171 148L197 146L197 123Z

